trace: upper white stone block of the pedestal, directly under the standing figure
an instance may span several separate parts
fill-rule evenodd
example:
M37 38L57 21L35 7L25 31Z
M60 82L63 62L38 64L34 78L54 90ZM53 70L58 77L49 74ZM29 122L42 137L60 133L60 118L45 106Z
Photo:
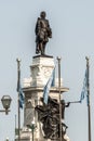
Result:
M43 87L54 68L54 59L51 56L33 56L31 70L31 87Z

